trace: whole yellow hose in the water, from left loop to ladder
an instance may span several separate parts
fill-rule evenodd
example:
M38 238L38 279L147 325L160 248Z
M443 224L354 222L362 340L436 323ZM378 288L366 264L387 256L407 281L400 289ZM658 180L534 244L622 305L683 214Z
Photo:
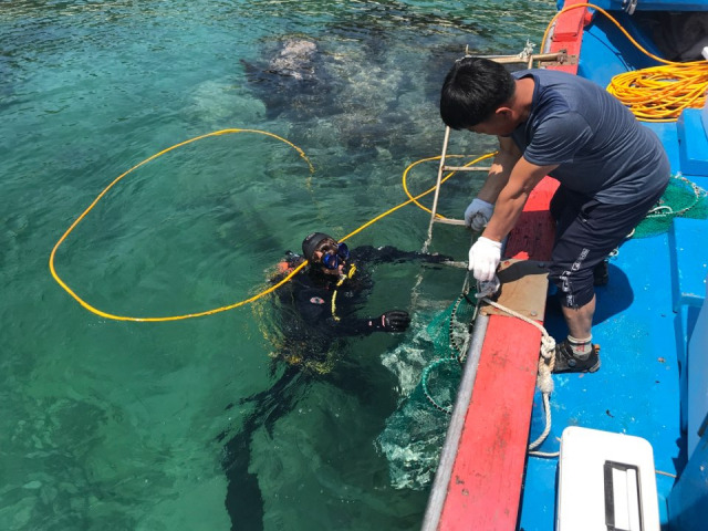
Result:
M274 285L271 285L270 288L268 288L267 290L261 291L260 293L254 294L253 296L250 296L249 299L244 299L242 301L239 302L235 302L232 304L228 304L226 306L220 306L220 308L215 308L212 310L205 310L202 312L195 312L195 313L186 313L183 315L167 315L167 316L163 316L163 317L134 317L134 316L128 316L128 315L116 315L113 313L108 313L108 312L104 312L102 310L98 310L97 308L88 304L86 301L84 301L81 296L79 296L56 273L56 270L54 269L54 258L56 256L56 250L60 248L60 246L64 242L64 240L69 237L69 235L76 228L76 226L86 217L86 215L98 204L98 201L107 194L107 191L113 188L116 184L118 184L124 177L126 177L128 174L131 174L132 171L134 171L135 169L139 168L140 166L144 166L145 164L149 163L150 160L156 159L157 157L160 157L162 155L165 155L166 153L171 152L173 149L177 149L178 147L185 146L187 144L191 144L192 142L197 142L204 138L208 138L210 136L220 136L220 135L228 135L228 134L232 134L232 133L254 133L254 134L259 134L259 135L266 135L266 136L270 136L272 138L275 138L278 140L281 140L285 144L288 144L289 146L291 146L293 149L295 149L300 156L308 163L308 166L310 167L310 171L313 173L314 171L314 167L312 166L312 163L310 162L310 159L308 158L308 156L305 155L305 153L300 149L298 146L295 146L294 144L292 144L291 142L287 140L285 138L282 138L278 135L274 135L272 133L266 132L266 131L260 131L260 129L221 129L221 131L216 131L214 133L208 133L206 135L201 135L201 136L197 136L195 138L190 138L188 140L185 142L180 142L179 144L175 144L171 147L168 147L167 149L163 149L162 152L153 155L152 157L146 158L145 160L143 160L139 164L136 164L135 166L133 166L131 169L128 169L127 171L121 174L118 177L116 177L108 186L106 186L103 191L101 194L98 194L98 196L93 200L93 202L91 205L88 205L88 208L86 208L81 216L79 216L79 218L76 218L76 220L71 225L71 227L69 227L69 229L66 229L66 231L64 232L64 235L59 239L59 241L54 244L54 248L52 249L52 252L49 257L49 269L52 273L52 277L54 278L54 280L56 281L56 283L59 285L61 285L64 291L66 291L66 293L69 293L76 302L79 302L79 304L81 304L84 309L88 310L91 313L94 313L95 315L98 315L101 317L105 317L105 319L111 319L114 321L133 321L133 322L140 322L140 323L160 323L160 322L167 322L167 321L183 321L186 319L194 319L194 317L204 317L206 315L214 315L216 313L221 313L221 312L226 312L228 310L233 310L239 306L243 306L246 304L250 304L251 302L257 301L258 299L268 295L269 293L272 293L273 291L275 291L277 289L279 289L280 287L284 285L285 283L290 282L290 280L298 274L305 266L308 266L308 261L303 261L300 266L298 266L295 269L293 269L285 278L283 278L280 282L278 282ZM488 155L483 155L475 160L472 160L471 163L468 163L468 165L472 165L475 163L477 163L478 160L482 160L483 158L490 157L494 155L493 153L488 154ZM431 158L426 158L423 160L418 160L416 163L413 163L410 166L408 166L406 168L406 171L404 173L404 187L405 187L405 176L408 174L408 170L410 170L410 168L413 168L414 166L416 166L419 163L423 162L427 162L427 160L439 160L439 156L438 157L431 157ZM450 178L452 176L452 174L449 174L445 177L445 179L441 181L444 183L445 180L447 180L448 178ZM367 221L366 223L364 223L363 226L361 226L358 229L354 230L353 232L350 232L347 236L345 236L344 238L342 238L340 241L344 241L347 238L351 238L352 236L361 232L362 230L364 230L366 227L369 227L371 225L375 223L376 221L378 221L379 219L388 216L389 214L398 210L399 208L405 207L406 205L409 205L410 202L415 202L416 205L418 205L420 208L427 210L423 205L420 205L417 200L420 199L421 197L430 194L433 190L435 190L435 186L433 188L429 188L428 190L424 191L423 194L417 195L416 197L412 197L410 194L408 192L408 189L406 188L406 194L408 195L408 197L410 197L409 200L402 202L400 205L397 205L388 210L386 210L384 214L382 214L381 216L375 217L374 219ZM429 212L429 210L428 210Z

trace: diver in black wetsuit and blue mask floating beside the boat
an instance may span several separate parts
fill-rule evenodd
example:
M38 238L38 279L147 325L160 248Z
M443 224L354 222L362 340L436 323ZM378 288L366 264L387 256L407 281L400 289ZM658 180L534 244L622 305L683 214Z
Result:
M230 437L225 444L222 467L228 479L226 507L233 530L263 528L258 477L249 471L253 433L264 428L272 435L275 423L294 409L316 378L335 379L334 385L340 387L356 385L351 382L351 372L342 382L332 372L343 339L408 329L410 316L403 310L389 310L377 316L357 315L373 288L369 268L407 260L442 263L451 258L388 246L362 246L350 251L346 243L324 232L312 232L302 242L302 254L287 252L271 282L280 282L305 260L308 266L275 292L273 302L281 317L277 337L272 337L274 333L266 334L275 347L271 372L280 365L284 366L283 374L271 388L230 405L229 408L247 405L252 410L236 435L225 431L219 437L220 441Z

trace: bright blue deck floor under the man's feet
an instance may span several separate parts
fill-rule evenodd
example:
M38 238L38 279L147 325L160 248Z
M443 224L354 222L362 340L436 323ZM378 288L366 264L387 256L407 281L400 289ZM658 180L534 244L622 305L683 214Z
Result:
M583 426L647 439L657 470L676 475L683 466L668 241L668 235L629 240L611 261L610 283L596 291L593 329L594 341L602 347L602 367L594 374L554 376L553 425L541 451L558 451L563 429ZM565 333L553 298L545 326L556 337ZM543 430L544 418L537 393L531 439ZM525 531L553 529L556 471L556 459L529 457L520 518ZM657 476L660 508L666 507L662 498L673 483L674 478Z

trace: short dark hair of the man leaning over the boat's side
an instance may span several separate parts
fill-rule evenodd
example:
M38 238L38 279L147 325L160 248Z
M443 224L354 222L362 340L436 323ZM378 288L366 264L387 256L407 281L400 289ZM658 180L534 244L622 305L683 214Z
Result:
M454 129L485 122L513 96L516 81L502 64L482 58L455 62L442 83L440 116Z

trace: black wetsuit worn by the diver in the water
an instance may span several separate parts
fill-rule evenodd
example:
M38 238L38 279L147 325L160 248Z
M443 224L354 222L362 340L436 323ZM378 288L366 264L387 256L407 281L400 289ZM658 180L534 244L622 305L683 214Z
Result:
M288 252L285 260L292 270L304 259ZM351 271L352 264L357 269L339 288L337 275L326 274L320 268L309 267L277 291L277 303L285 315L282 319L283 344L279 345L274 362L278 363L279 360L287 362L284 373L270 389L239 402L240 405L252 404L254 407L252 413L243 419L239 433L225 445L222 467L228 479L226 507L231 517L232 530L250 531L263 528L263 499L258 478L248 470L253 431L262 426L272 433L278 419L294 408L309 383L314 377L327 377L326 371L312 369L312 367L316 367L317 363L324 364L332 361L330 353L337 350L339 339L385 331L381 326L381 316L356 315L373 287L368 268L377 263L409 260L439 263L450 258L400 251L393 247L363 246L352 250L344 273L347 274ZM288 272L278 274L272 282L279 282ZM335 292L333 314L332 298ZM310 362L314 362L314 365ZM220 439L227 436L225 431Z

